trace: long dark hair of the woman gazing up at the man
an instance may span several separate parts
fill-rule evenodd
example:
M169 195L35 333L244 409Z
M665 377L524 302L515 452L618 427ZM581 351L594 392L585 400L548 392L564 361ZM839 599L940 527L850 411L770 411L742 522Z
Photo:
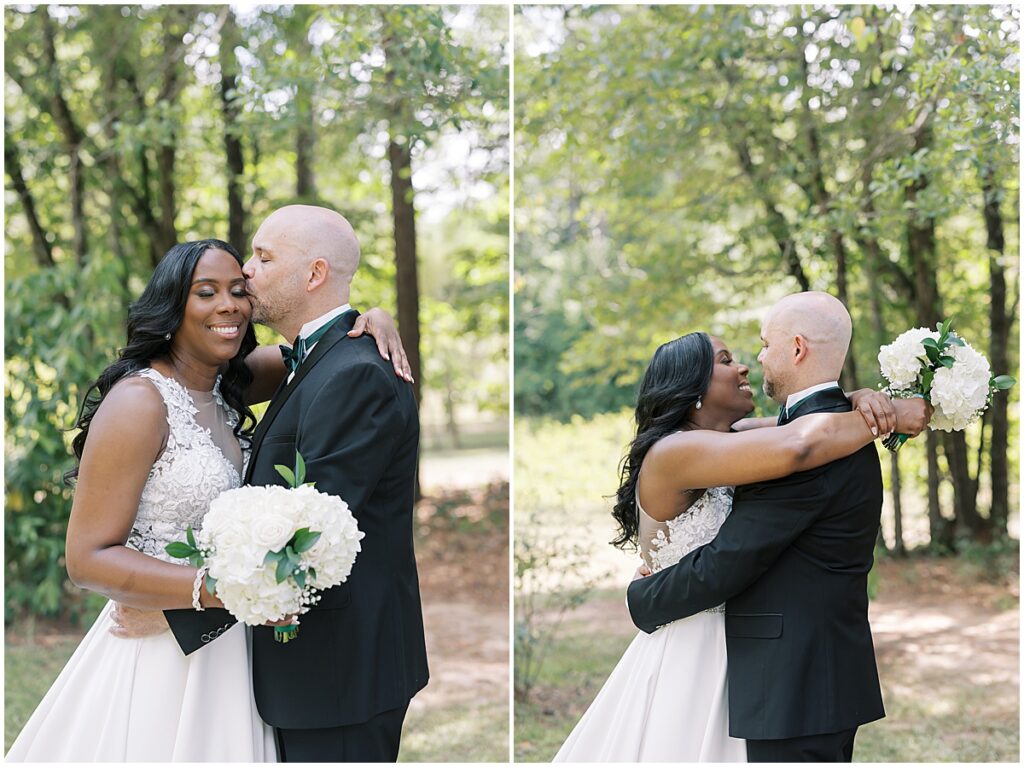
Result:
M647 451L662 437L679 431L697 399L708 391L715 352L707 333L688 333L657 347L637 393L637 433L623 459L622 479L611 516L618 522L612 546L636 546L640 526L637 478Z

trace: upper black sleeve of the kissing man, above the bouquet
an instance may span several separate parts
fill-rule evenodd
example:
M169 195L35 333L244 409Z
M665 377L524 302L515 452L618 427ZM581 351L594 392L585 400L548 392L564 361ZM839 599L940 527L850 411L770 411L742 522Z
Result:
M340 496L356 516L404 429L399 382L392 378L370 361L332 377L310 401L297 434L308 481L322 493Z

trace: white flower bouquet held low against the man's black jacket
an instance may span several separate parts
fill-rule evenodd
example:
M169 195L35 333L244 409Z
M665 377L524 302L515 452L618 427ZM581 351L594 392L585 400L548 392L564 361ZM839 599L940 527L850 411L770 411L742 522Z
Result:
M250 626L305 612L318 591L348 578L364 534L348 504L305 482L305 463L275 466L290 487L244 486L221 493L195 535L167 546L173 557L206 566L207 589ZM276 627L287 642L297 626Z

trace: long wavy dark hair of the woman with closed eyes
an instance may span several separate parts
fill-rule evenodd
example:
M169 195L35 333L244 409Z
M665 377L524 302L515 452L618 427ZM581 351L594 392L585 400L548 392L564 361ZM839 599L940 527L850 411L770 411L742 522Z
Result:
M78 477L82 462L82 451L89 438L89 425L106 393L122 378L148 368L154 359L168 357L171 340L181 325L185 304L191 291L193 273L196 264L208 250L223 250L231 254L241 266L242 256L230 245L220 240L197 240L179 243L167 251L153 270L150 283L139 299L128 309L128 342L120 350L118 358L89 385L82 397L78 419L72 428L81 429L72 440L72 450L77 463L75 468L65 473L68 484ZM252 371L245 364L246 355L256 348L256 333L252 324L242 337L239 353L231 357L227 370L220 379L220 394L224 401L240 414L234 426L234 435L248 440L256 425L256 418L246 406L244 392L253 381Z

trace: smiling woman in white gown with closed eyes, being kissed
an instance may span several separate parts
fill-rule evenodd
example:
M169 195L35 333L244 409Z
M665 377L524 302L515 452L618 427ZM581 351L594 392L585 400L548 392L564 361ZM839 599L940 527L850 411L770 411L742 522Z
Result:
M241 484L255 425L248 403L268 399L286 372L278 347L256 348L242 263L218 240L172 248L129 311L127 345L84 397L73 442L79 465L69 472L78 484L68 573L112 601L7 761L276 761L253 699L245 628L232 625L185 656L161 612L223 606L164 547ZM376 335L408 378L390 317L371 312L352 334ZM163 632L119 638L129 635L116 610Z

